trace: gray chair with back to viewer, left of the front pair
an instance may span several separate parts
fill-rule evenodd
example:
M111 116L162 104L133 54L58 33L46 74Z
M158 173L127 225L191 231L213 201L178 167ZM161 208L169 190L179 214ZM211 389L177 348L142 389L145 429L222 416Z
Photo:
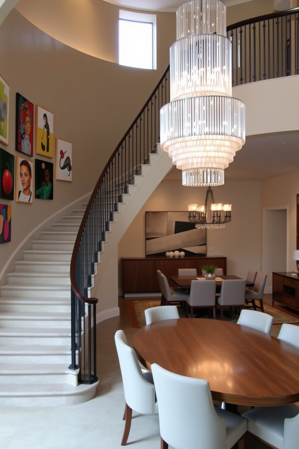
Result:
M191 281L190 295L186 299L186 317L190 308L193 318L193 309L198 307L212 308L213 318L216 319L216 281Z

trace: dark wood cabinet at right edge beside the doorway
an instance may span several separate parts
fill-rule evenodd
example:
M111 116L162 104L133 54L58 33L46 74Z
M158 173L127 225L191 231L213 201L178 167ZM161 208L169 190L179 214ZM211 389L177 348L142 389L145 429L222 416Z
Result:
M272 305L274 301L299 310L299 277L290 272L272 273Z

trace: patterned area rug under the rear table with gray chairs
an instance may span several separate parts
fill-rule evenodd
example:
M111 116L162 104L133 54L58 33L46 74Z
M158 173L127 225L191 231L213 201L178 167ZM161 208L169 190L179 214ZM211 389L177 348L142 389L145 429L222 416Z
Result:
M138 299L130 300L130 315L132 327L139 328L145 326L145 316L144 310L150 307L157 307L160 305L160 299ZM258 305L258 301L256 301ZM299 323L299 317L295 314L288 313L282 308L277 306L272 306L264 302L264 311L272 315L274 320L274 325L281 325L282 323ZM180 317L185 318L185 310L183 308L178 308ZM194 316L198 318L208 318L208 314L205 309L198 309L198 314L196 314L196 309L194 311ZM220 315L217 314L216 319L220 320ZM233 311L227 311L224 316L225 321L237 322L238 315ZM279 326L280 327L280 326ZM278 331L278 329L277 329ZM277 332L278 333L278 332Z

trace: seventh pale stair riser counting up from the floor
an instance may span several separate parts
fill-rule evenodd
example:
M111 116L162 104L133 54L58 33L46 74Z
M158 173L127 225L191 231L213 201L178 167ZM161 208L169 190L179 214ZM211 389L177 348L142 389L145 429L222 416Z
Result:
M10 288L9 288L10 287ZM36 289L25 289L22 287L12 286L7 284L7 286L1 287L1 295L8 297L22 297L22 298L69 298L70 299L70 288L68 286L61 286L61 288L56 289L46 289L44 286Z

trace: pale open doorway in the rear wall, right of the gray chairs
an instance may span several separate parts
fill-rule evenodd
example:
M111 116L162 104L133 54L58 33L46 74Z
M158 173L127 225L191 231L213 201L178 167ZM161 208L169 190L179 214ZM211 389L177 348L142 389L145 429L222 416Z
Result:
M264 266L267 274L264 293L272 293L272 272L287 271L288 208L264 209Z

